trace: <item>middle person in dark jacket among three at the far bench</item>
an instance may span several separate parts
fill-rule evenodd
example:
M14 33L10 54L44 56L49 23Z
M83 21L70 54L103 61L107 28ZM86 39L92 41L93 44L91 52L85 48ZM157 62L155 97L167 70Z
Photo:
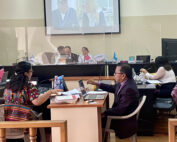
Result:
M65 46L65 55L67 55L66 62L78 62L78 55L71 52L70 46Z

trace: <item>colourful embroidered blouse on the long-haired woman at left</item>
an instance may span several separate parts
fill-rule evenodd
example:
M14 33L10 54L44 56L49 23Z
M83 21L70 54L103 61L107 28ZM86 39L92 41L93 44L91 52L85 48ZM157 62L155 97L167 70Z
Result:
M11 89L4 90L5 104L31 105L32 101L39 97L39 91L35 85L24 86L23 90L13 93Z

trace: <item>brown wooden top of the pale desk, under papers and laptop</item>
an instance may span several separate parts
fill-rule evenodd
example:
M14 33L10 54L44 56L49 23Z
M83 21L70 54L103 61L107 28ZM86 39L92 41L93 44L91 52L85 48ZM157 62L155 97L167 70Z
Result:
M103 100L94 100L95 104L88 104L86 101L83 101L79 99L79 101L76 102L76 104L57 104L57 103L51 103L47 106L47 108L70 108L70 107L103 107L105 100L108 95L105 95L105 98Z

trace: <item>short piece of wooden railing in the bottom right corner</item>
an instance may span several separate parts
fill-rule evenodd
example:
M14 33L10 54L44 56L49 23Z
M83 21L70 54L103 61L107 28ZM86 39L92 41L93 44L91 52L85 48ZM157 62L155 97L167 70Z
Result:
M177 119L168 119L168 140L169 142L176 142Z

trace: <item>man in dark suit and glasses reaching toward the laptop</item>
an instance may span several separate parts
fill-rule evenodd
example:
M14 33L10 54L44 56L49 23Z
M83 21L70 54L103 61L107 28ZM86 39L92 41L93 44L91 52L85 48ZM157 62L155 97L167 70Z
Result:
M123 116L132 113L138 106L138 89L132 79L132 68L128 64L118 64L114 73L115 85L107 85L88 80L88 84L97 85L99 88L114 93L112 108L103 113L102 125L105 127L108 115ZM127 138L137 131L136 116L125 120L112 120L111 128L119 138Z

